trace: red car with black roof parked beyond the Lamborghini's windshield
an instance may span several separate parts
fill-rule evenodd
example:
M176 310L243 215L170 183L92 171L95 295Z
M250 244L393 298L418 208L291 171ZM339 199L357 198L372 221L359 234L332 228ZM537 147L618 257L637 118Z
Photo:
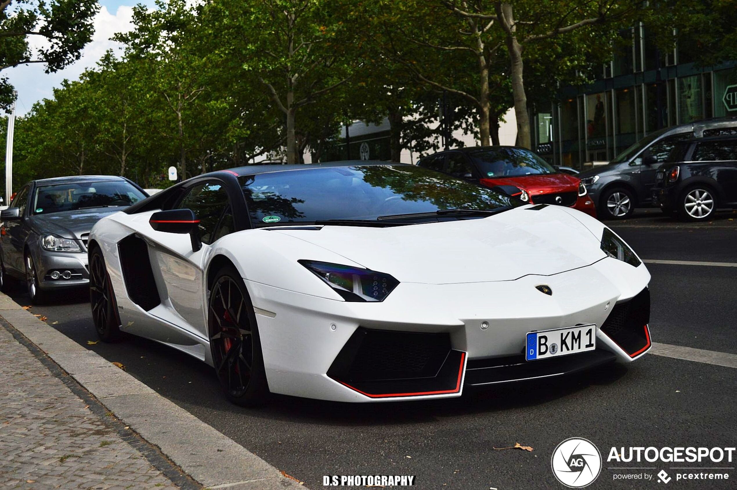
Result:
M559 172L525 148L458 148L426 156L418 165L487 187L514 186L520 190L513 195L522 200L568 206L596 217L593 200L580 178Z

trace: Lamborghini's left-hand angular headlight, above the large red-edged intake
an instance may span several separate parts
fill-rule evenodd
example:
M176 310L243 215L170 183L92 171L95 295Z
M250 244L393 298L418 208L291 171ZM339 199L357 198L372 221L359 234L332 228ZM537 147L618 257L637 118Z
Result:
M375 270L312 260L298 262L346 301L384 301L399 284L392 276Z

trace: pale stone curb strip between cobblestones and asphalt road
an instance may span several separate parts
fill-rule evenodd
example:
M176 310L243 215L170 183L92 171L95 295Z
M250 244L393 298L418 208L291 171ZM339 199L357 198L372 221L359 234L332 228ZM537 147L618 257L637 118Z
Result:
M96 352L43 323L3 293L0 316L117 419L207 489L305 488Z

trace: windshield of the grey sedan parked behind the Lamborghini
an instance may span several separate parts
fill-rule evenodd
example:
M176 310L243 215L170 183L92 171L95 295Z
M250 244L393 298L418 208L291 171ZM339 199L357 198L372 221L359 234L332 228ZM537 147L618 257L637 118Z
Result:
M127 207L144 198L139 189L126 181L85 181L41 186L36 189L33 214L108 206Z

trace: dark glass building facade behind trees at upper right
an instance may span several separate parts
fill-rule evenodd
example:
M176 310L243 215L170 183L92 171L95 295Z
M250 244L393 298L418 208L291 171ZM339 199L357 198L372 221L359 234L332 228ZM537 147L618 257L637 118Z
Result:
M581 169L660 128L737 117L737 105L725 100L737 85L737 62L697 66L691 46L660 52L642 26L624 35L627 47L598 80L562 88L559 101L533 114L533 147L550 163Z

